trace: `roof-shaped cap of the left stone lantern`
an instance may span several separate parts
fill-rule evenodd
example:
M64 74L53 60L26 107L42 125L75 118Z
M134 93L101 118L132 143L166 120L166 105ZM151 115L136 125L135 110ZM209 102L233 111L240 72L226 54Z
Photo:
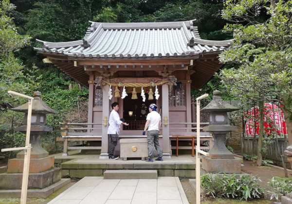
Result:
M50 108L47 104L45 104L40 98L40 96L41 96L41 93L39 91L34 92L34 101L33 101L33 107L32 107L33 113L42 113L42 114L58 113L54 111L52 108ZM11 108L10 110L27 113L28 102L16 108Z

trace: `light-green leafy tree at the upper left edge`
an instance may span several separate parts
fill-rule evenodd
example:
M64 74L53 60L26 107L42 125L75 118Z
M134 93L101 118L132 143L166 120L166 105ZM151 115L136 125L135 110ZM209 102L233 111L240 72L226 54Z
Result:
M15 7L9 0L0 2L0 102L8 102L8 90L22 93L28 91L23 83L23 65L14 52L29 43L30 37L18 34L9 12Z

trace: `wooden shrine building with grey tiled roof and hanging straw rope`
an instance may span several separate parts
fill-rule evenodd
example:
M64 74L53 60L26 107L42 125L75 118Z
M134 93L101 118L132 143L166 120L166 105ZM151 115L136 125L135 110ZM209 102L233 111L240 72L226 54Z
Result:
M170 136L192 132L190 124L182 124L193 122L191 88L200 89L212 78L221 66L219 53L232 40L203 40L193 21L90 22L81 40L37 40L42 48L34 49L45 63L89 88L88 132L101 137L101 155L108 153L110 105L118 102L120 118L129 123L120 137L142 137L148 107L157 105L160 145L169 156Z

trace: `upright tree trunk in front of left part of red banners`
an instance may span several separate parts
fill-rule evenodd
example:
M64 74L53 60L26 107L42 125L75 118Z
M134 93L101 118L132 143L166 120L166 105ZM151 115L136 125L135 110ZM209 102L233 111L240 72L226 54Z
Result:
M263 137L264 137L264 102L258 102L258 111L259 111L259 135L257 141L257 166L262 165L262 154L261 149L263 146Z

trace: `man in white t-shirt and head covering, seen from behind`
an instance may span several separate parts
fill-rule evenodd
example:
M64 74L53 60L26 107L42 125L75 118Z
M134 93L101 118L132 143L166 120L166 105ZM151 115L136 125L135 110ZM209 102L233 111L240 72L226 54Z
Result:
M153 150L154 147L158 152L158 158L155 159L156 161L163 161L162 158L162 150L159 146L159 129L161 128L161 117L159 113L156 112L157 106L152 103L149 105L149 114L146 118L146 124L143 131L145 136L146 130L147 131L147 144L148 144L148 159L146 162L153 162Z

